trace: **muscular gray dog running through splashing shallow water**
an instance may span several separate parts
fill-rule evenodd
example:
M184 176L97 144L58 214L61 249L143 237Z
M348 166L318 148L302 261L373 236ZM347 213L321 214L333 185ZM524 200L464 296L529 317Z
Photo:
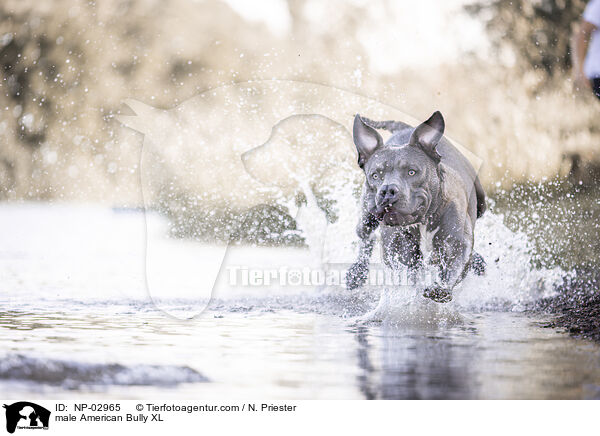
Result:
M430 245L431 262L440 268L439 282L424 296L445 303L471 267L483 274L485 262L473 251L475 220L485 211L485 193L469 161L444 135L444 118L435 112L413 128L397 121L371 121L356 115L354 144L366 180L358 260L346 275L348 289L362 286L369 272L381 225L384 262L402 263L415 273ZM384 144L375 129L392 132Z

